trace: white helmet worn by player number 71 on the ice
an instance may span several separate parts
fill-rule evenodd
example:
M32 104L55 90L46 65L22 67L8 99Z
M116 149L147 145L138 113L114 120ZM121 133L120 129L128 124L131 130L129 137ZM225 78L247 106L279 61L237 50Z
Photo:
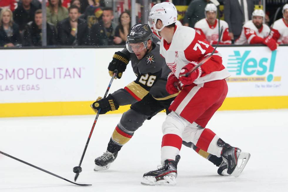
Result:
M176 23L177 15L177 9L173 3L158 3L151 8L149 13L149 26L153 26L154 31L156 31L157 35L159 35L158 31L164 29L165 26ZM160 19L163 23L163 27L161 27L161 29L157 29L155 26L157 19Z

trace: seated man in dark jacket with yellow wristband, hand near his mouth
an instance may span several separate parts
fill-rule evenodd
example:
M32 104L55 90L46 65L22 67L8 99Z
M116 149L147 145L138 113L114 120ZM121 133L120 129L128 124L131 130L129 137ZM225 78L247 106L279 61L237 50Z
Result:
M69 7L69 17L58 24L58 40L61 45L88 45L89 31L87 22L80 19L80 9Z

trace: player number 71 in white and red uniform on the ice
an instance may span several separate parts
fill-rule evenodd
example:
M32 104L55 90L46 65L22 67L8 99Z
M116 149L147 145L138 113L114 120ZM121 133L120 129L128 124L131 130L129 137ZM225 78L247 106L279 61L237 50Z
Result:
M141 183L176 184L182 141L192 142L203 151L222 157L228 164L227 173L239 176L250 154L230 146L206 128L228 92L225 78L230 74L222 65L221 54L215 51L210 60L192 71L200 61L211 55L213 47L193 28L175 25L177 10L172 3L154 5L149 15L153 20L153 29L162 36L160 54L172 71L167 79L166 90L170 94L178 92L178 89L181 92L171 103L171 113L162 125L162 166L145 173Z

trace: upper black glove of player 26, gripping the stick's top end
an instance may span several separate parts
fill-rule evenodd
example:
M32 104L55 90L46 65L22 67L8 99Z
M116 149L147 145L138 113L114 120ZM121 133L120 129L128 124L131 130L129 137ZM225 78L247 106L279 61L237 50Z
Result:
M126 65L128 63L129 63L129 60L124 53L122 53L121 51L115 52L115 54L113 55L113 60L110 62L109 66L108 66L110 76L112 77L113 71L115 69L117 69L118 73L116 76L118 79L120 79L122 77L122 73L125 71ZM115 77L115 79L116 79L116 77Z

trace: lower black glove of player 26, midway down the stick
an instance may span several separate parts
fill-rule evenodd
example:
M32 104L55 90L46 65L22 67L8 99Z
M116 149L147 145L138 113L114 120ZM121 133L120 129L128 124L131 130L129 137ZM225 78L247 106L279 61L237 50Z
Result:
M115 111L119 108L119 105L116 103L115 99L111 96L111 94L108 95L108 97L103 98L98 97L97 100L90 105L93 111L95 113L98 113L98 110L101 108L99 114L105 114L108 111Z

